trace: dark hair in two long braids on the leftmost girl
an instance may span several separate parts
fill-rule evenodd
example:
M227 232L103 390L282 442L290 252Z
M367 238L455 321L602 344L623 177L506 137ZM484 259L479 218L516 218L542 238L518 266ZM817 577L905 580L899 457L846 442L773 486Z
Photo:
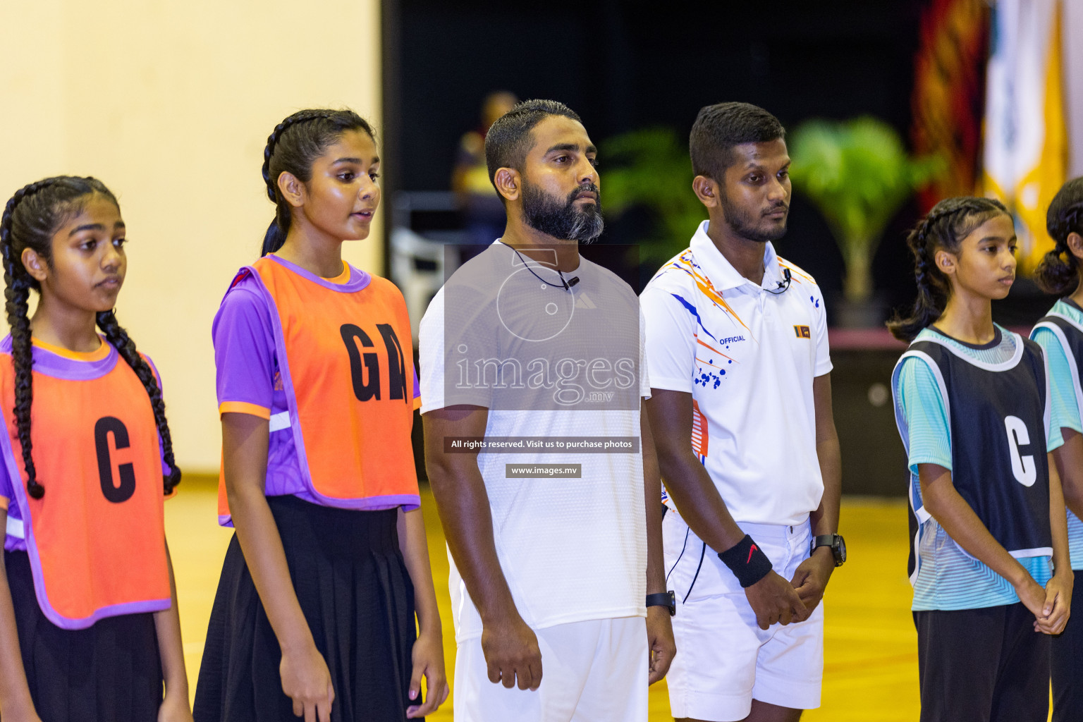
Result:
M112 204L116 196L105 184L93 178L61 175L23 186L8 201L0 220L0 251L3 253L3 278L6 285L8 324L11 326L11 355L15 367L15 424L18 442L23 447L23 464L26 467L26 490L35 499L45 494L45 487L38 481L34 467L32 442L30 437L30 404L34 401L34 353L30 342L30 319L27 317L27 301L30 289L40 292L41 285L23 265L23 251L34 250L48 264L52 259L53 234L68 219L80 213L91 196L99 194ZM169 467L169 474L162 477L166 494L181 481L181 470L173 461L173 442L166 422L166 404L161 389L151 369L151 365L135 350L128 331L120 327L114 312L103 311L95 318L105 338L128 362L135 376L143 382L154 420L161 437L161 455Z

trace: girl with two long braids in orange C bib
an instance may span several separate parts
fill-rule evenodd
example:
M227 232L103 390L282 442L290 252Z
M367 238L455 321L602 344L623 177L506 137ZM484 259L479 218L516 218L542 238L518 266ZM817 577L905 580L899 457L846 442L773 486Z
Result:
M157 371L114 314L125 240L92 178L31 183L0 220L4 722L192 720L162 510L181 472Z

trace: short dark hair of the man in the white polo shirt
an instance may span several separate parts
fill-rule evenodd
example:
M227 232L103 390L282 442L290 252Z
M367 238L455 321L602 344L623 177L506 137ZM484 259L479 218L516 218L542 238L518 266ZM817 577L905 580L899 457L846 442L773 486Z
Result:
M786 129L764 108L749 103L716 103L700 108L688 137L692 172L721 182L733 162L733 146L785 139Z

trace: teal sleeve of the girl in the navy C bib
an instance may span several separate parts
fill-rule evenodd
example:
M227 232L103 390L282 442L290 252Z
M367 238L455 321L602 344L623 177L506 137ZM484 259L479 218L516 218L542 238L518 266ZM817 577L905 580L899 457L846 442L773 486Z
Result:
M910 436L910 471L917 464L935 463L951 470L951 430L940 384L928 364L910 357L899 369L896 398Z

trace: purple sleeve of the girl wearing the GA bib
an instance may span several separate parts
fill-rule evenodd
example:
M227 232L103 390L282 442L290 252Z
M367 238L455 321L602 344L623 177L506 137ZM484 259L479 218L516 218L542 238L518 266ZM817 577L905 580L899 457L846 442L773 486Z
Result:
M250 405L271 412L274 395L274 332L271 312L251 278L242 279L214 316L218 405Z

